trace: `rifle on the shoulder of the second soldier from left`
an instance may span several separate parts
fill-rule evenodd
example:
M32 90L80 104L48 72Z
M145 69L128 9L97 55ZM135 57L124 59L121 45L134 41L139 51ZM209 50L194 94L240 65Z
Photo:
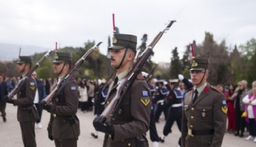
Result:
M79 70L79 68L81 67L81 65L84 63L85 58L87 58L87 56L92 53L92 51L94 51L96 48L99 47L99 45L102 42L98 43L97 45L94 45L94 47L90 48L86 53L84 53L84 55L79 59L79 61L77 61L74 65L73 68L71 68L71 70L69 71L68 74L66 74L66 76L64 76L63 79L59 80L52 88L51 88L51 92L50 94L48 94L47 97L45 97L45 99L42 100L43 103L49 104L51 99L53 99L53 97L56 97L56 95L58 95L62 89L66 86L66 84L68 84L69 79L76 73L76 71Z

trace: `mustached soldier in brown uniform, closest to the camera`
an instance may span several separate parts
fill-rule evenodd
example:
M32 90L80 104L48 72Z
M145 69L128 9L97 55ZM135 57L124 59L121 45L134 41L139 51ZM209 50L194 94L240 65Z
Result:
M115 97L118 81L128 74L136 56L137 37L115 34L110 49L111 66L117 69L115 82L110 86L106 106ZM94 128L105 133L103 146L149 146L145 133L149 130L151 93L143 76L131 84L118 110L115 120L106 121L100 115L93 121Z

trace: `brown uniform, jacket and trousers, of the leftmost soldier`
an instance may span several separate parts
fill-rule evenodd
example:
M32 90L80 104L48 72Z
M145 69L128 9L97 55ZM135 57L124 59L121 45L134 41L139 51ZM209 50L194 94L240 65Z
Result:
M31 76L25 81L14 105L18 106L17 120L22 130L22 140L24 146L36 146L35 143L35 120L39 118L34 106L36 82Z

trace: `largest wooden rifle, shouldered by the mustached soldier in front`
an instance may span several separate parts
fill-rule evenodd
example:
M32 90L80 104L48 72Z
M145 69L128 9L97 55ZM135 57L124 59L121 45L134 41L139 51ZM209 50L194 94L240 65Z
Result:
M169 30L169 28L172 26L174 22L176 21L172 20L171 22L169 22L167 27L165 27L162 32L159 32L159 34L156 35L156 37L154 37L154 40L146 48L143 55L141 55L141 57L138 58L133 68L131 68L131 70L128 71L128 74L120 81L117 87L117 92L115 94L115 97L111 100L110 104L108 104L105 110L102 112L102 116L106 117L107 120L110 120L110 119L115 120L115 116L118 115L120 104L129 86L133 84L133 81L136 79L137 75L141 72L142 67L144 66L148 58L152 55L153 53L152 49L154 48L156 43L158 43L158 41L160 40L164 32Z

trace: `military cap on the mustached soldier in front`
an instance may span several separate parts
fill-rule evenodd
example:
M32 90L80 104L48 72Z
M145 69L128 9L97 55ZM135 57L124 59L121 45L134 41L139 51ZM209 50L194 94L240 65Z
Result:
M127 34L115 34L112 37L112 46L109 49L131 48L136 51L137 36Z

